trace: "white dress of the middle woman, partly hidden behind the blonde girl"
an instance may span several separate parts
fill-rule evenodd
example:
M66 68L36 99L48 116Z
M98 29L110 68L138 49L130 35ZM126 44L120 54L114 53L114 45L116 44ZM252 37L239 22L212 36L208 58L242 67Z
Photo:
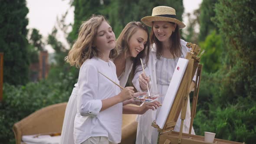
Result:
M128 76L132 69L132 65L133 63L130 59L126 60L125 71L122 72L122 74L118 77L118 80L120 81L120 85L122 87L125 87L127 83ZM77 94L79 85L76 83L74 86L75 87L73 88L66 107L59 144L75 144L73 133L75 115L77 113Z

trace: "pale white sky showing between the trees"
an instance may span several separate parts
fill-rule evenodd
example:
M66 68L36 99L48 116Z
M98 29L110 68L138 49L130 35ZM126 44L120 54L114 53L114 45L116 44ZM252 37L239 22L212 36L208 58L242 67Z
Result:
M60 18L67 10L69 10L69 13L66 17L66 23L73 23L74 7L70 7L69 1L70 0L27 0L27 7L29 9L29 13L27 14L27 18L29 19L27 29L38 29L43 39L46 40L47 36L52 32L53 27L56 25L56 18ZM185 25L188 23L185 13L192 13L194 10L198 9L201 2L202 0L183 0L183 22ZM66 46L68 45L63 39L62 33L59 33L57 36L59 37L59 41ZM46 49L49 53L54 52L50 46L46 46Z

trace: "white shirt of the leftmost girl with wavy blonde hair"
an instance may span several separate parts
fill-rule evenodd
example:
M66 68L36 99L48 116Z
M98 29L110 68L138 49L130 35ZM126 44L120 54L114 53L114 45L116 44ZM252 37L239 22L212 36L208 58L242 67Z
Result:
M122 103L100 111L101 100L118 95L120 88L98 72L119 83L113 62L93 57L82 64L74 122L75 144L97 136L108 137L113 143L121 142Z

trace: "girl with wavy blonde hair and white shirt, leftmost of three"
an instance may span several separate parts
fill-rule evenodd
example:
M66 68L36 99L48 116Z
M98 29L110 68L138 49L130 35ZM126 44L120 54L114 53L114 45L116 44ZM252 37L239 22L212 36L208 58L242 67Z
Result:
M79 36L66 61L80 68L75 144L121 142L122 102L134 96L133 87L120 88L98 72L118 82L115 65L115 34L103 16L82 23ZM65 141L66 143L66 141Z

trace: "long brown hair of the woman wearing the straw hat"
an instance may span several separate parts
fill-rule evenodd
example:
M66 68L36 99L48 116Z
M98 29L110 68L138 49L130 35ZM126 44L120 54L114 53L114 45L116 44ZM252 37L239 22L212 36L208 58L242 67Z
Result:
M172 22L169 22L169 23L172 23ZM172 23L172 24L175 24L175 23ZM176 26L174 32L172 32L170 39L172 42L172 45L170 47L171 54L174 57L181 56L181 34L180 34L178 26ZM152 26L151 33L150 33L150 43L151 44L155 43L156 48L157 48L156 49L157 50L157 58L160 59L160 57L163 54L163 45L158 40L158 38L155 36L153 26Z

